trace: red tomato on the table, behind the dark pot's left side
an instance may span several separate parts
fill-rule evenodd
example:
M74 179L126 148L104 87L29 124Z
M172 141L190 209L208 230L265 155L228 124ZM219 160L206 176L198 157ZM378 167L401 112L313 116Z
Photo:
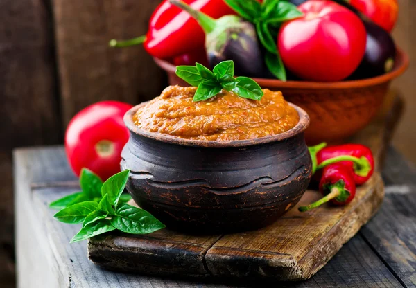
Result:
M121 150L129 137L123 116L131 107L123 102L103 101L72 118L65 133L65 150L77 176L84 167L103 181L120 172Z

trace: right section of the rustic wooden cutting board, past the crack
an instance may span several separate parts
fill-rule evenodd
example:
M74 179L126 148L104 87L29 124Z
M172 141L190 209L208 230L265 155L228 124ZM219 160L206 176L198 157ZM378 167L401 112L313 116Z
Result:
M376 213L383 194L376 174L358 188L349 206L324 206L302 214L295 206L271 226L224 235L205 255L207 268L214 276L310 278ZM308 190L299 205L318 199L319 193Z

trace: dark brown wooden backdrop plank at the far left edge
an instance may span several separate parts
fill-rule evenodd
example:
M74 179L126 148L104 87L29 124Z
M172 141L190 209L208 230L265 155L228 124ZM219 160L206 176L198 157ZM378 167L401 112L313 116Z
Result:
M51 19L45 1L0 1L0 148L60 140Z

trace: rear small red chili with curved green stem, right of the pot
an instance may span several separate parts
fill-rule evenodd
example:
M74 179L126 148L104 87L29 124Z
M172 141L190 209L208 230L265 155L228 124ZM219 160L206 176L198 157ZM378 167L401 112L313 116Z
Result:
M344 144L324 147L317 154L318 169L341 163L354 173L356 185L363 185L374 172L374 157L369 147L361 144Z

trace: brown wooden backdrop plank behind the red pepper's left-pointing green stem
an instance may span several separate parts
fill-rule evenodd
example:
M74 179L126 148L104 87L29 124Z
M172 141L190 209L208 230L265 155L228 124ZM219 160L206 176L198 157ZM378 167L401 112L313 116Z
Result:
M159 1L52 0L64 126L100 100L137 104L160 94L165 75L141 46L114 49L112 38L146 33Z

